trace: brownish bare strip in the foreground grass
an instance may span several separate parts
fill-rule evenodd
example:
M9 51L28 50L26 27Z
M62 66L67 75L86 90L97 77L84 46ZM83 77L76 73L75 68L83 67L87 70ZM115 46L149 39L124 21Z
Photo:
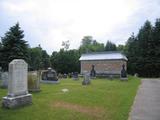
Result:
M81 106L81 105L62 102L62 101L54 102L53 106L84 113L84 114L87 114L87 115L90 115L96 118L102 118L105 115L104 108L100 108L100 107L86 107L86 106Z

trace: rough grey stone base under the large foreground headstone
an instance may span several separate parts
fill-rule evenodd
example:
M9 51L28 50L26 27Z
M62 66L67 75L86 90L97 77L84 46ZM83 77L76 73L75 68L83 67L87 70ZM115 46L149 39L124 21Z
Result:
M32 103L32 95L20 95L16 97L3 97L2 106L5 108L17 108Z

